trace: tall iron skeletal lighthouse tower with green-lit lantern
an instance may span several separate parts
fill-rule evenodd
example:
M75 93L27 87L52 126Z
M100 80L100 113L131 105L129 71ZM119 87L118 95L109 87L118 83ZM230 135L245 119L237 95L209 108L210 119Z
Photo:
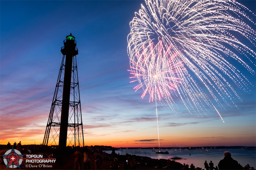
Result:
M81 102L78 84L75 37L70 33L63 41L60 72L45 129L43 145L84 146Z

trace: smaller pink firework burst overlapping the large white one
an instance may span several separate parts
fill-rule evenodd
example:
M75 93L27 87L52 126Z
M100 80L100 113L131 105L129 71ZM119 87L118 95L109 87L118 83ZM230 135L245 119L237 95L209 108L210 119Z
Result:
M171 51L171 46L164 50L162 41L154 47L150 42L147 47L143 47L141 52L130 58L132 77L136 78L139 84L134 87L135 92L143 89L141 98L149 94L149 102L156 97L159 101L168 100L170 91L175 91L181 83L179 75L183 74L183 63L176 60L178 53Z

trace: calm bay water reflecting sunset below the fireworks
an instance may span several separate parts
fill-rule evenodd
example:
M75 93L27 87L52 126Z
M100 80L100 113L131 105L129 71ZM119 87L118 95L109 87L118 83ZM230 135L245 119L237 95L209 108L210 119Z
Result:
M153 149L153 148L152 148ZM121 149L116 151L118 154L125 155L126 153L137 156L146 156L152 159L171 159L173 157L180 157L182 159L176 160L181 164L188 164L189 166L193 164L195 167L204 168L205 160L209 164L210 161L215 166L218 166L218 163L221 159L224 158L223 152L228 151L231 153L231 157L240 163L243 167L249 164L251 167L256 168L256 150L246 150L246 149L193 149L193 150L184 150L184 149L168 149L169 154L156 154L152 149ZM156 151L158 152L159 149ZM161 150L165 151L165 150ZM208 151L208 152L207 152ZM112 151L105 151L106 153L111 153Z

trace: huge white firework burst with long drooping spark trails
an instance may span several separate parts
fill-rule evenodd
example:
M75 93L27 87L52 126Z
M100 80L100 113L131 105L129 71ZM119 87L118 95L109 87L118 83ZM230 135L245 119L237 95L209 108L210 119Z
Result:
M149 94L153 101L156 95L156 100L164 107L169 105L174 113L180 100L191 114L198 116L207 115L209 109L218 112L215 106L224 110L236 107L235 101L242 101L236 89L248 92L254 85L248 77L255 77L255 14L234 0L145 3L130 22L127 49L132 78L139 83L135 89L144 91L141 97ZM152 74L154 67L159 70L157 67L165 64L157 63L152 54L161 53L158 60L167 60L159 48L156 52L155 47L160 44L162 51L170 56L176 54L172 64L184 64L177 69L182 74L177 71L170 76L175 77L170 83L172 88L160 78L155 80L158 75ZM153 47L155 51L150 53ZM171 67L163 67L172 72Z

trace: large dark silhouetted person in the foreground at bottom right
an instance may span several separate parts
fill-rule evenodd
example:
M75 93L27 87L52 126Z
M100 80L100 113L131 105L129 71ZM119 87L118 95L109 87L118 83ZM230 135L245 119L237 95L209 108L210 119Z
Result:
M220 160L218 164L219 169L239 169L238 162L231 158L231 153L225 151L224 159Z

